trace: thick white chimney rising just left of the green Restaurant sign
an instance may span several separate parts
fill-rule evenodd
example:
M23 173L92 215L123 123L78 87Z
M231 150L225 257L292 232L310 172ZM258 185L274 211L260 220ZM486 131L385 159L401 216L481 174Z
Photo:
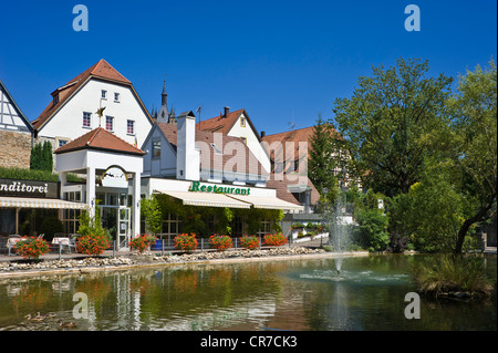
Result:
M196 116L185 112L176 117L176 178L199 180L199 150L196 149Z

